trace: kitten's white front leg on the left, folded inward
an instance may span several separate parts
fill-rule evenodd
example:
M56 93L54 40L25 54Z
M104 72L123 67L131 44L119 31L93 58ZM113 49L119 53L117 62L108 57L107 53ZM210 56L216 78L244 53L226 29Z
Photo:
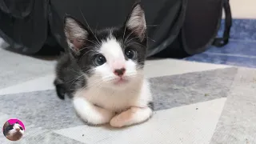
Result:
M114 117L114 112L94 106L84 98L74 98L73 102L78 115L89 124L105 124Z

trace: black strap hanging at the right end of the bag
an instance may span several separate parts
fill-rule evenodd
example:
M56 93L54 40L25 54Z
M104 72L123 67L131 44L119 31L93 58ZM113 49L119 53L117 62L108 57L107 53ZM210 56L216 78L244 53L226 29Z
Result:
M230 28L232 26L232 15L231 15L231 10L230 10L230 1L229 0L224 0L223 3L224 11L225 11L225 30L223 33L222 38L215 38L213 45L217 47L222 47L225 46L230 39Z

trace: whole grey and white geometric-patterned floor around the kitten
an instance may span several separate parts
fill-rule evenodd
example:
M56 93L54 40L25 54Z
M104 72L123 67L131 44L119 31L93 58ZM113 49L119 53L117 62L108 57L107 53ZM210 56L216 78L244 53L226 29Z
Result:
M18 61L19 66L11 68L19 71L20 67L33 66L33 63L44 66L41 60L23 57ZM51 69L54 64L50 61L47 66ZM8 62L2 66L8 67ZM256 142L255 70L174 59L148 61L146 76L153 86L154 117L141 125L121 130L84 125L75 116L70 102L57 98L52 86L53 70L31 70L34 72L17 77L14 84L0 88L0 123L15 117L26 124L26 135L18 143ZM19 73L27 71L20 70ZM13 74L5 75L11 78ZM8 83L7 79L2 79ZM233 113L237 113L235 117ZM222 131L224 128L226 131ZM237 132L241 130L243 133ZM10 143L0 135L1 142Z

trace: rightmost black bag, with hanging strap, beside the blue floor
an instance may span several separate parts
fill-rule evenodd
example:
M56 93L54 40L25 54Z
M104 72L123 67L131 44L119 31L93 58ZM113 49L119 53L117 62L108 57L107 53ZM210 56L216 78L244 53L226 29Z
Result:
M184 58L198 54L209 48L210 45L225 46L229 42L232 17L229 0L190 0L183 1L186 14L183 22L179 23L177 37L172 41L174 33L170 33L159 46L154 48L154 57ZM222 21L224 8L225 30L222 38L216 38ZM184 11L181 11L184 13ZM174 30L175 31L175 30Z

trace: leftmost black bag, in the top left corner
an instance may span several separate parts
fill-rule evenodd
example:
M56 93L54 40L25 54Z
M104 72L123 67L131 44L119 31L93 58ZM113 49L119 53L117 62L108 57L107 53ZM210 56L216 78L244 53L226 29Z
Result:
M34 54L48 37L46 1L0 0L0 37L12 50Z

